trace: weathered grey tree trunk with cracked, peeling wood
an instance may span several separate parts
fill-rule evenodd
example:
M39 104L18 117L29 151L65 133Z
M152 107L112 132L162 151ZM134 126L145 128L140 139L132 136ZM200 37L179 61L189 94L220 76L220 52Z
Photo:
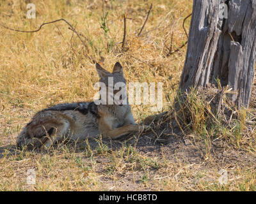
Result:
M248 106L255 57L256 0L194 0L181 91L219 79L237 91L231 96L237 106Z

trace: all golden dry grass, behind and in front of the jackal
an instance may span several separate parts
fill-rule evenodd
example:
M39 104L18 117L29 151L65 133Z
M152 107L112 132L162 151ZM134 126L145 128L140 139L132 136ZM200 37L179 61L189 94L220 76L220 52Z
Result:
M0 27L1 191L255 191L252 115L241 121L240 126L232 126L238 127L234 132L232 128L218 129L225 139L237 134L234 140L229 139L234 148L223 143L225 140L215 140L221 135L209 129L207 134L216 137L205 137L203 145L184 145L184 135L176 138L160 128L156 136L134 136L127 142L87 140L79 150L61 145L46 153L17 151L13 147L15 138L33 114L52 104L93 99L93 85L98 77L92 60L101 61L109 70L120 61L127 82L163 82L164 110L170 110L186 47L167 55L171 41L172 51L186 42L182 22L192 9L189 0L153 1L147 24L138 38L152 1L104 1L105 16L108 12L105 25L102 1L34 1L36 19L31 20L26 18L25 2L1 1L0 23L35 30L44 22L65 18L83 33L87 48L64 22L45 25L37 33L17 33ZM122 51L124 14L127 29ZM189 20L185 25L188 30ZM139 121L152 114L148 110L146 105L132 105ZM198 118L202 112L193 113L193 124L206 121ZM246 121L251 122L251 129L244 127ZM193 124L189 133L204 132L204 128L195 128ZM250 136L241 135L242 131ZM175 140L175 147L158 143L160 134ZM140 145L144 140L152 142L144 147ZM211 151L213 145L215 152ZM27 170L31 168L36 170L35 185L26 184ZM218 183L220 169L228 170L226 185Z

